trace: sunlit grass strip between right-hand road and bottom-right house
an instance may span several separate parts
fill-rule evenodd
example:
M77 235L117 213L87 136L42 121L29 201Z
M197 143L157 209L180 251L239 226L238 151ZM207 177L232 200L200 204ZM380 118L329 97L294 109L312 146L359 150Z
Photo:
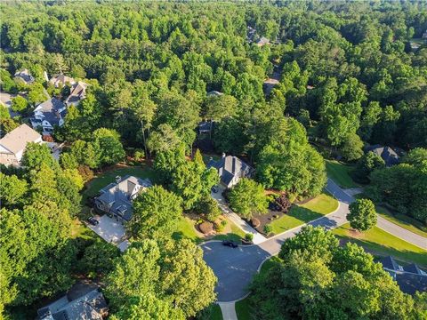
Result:
M415 262L427 268L427 252L422 248L409 244L396 236L374 227L364 233L356 233L347 223L340 228L335 228L333 233L345 240L363 246L368 252L380 256L393 256L404 262Z

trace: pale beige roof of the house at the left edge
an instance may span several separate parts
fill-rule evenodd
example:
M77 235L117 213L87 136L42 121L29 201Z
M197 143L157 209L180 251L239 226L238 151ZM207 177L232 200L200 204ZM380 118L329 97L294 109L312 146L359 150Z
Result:
M20 124L12 132L7 133L1 140L0 145L10 150L13 154L17 154L25 149L28 142L34 142L42 139L40 133L31 129L27 124Z

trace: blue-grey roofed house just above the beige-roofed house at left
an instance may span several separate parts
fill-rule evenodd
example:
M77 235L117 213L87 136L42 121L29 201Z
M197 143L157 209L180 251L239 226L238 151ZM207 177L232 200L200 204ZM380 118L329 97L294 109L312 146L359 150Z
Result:
M54 126L64 124L67 108L65 104L56 98L40 103L34 109L34 117L30 119L33 128L42 127L44 134L50 134Z

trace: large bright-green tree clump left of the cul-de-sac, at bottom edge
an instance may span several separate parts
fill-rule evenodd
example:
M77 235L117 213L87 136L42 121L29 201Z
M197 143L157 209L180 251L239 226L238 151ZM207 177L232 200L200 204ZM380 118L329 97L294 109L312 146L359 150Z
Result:
M116 260L105 294L113 318L185 319L214 301L215 283L196 244L143 240Z

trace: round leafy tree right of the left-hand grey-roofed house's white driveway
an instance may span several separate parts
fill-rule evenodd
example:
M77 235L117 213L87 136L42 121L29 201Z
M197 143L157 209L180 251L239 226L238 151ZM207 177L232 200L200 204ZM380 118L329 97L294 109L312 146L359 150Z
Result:
M142 192L133 201L133 219L128 228L138 238L171 236L181 218L182 200L160 186Z

